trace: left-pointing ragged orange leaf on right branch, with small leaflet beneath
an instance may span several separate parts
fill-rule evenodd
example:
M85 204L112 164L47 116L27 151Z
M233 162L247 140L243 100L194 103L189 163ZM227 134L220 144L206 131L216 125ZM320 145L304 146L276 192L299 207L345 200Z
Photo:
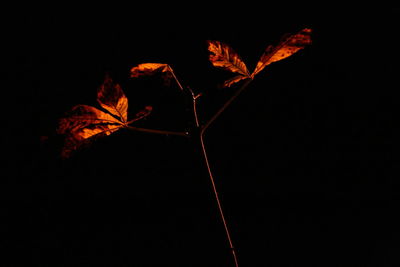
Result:
M223 84L224 87L230 87L234 83L250 78L250 73L246 64L227 44L219 41L208 41L208 50L211 52L209 59L214 67L239 74L238 76L225 81Z

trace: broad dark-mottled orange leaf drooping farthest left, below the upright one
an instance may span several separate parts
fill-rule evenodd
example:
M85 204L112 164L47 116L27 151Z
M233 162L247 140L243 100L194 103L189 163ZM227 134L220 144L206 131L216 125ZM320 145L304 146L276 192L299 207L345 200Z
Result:
M108 113L95 107L77 105L59 123L57 132L66 135L61 156L67 158L89 139L110 135L122 126L121 121Z

